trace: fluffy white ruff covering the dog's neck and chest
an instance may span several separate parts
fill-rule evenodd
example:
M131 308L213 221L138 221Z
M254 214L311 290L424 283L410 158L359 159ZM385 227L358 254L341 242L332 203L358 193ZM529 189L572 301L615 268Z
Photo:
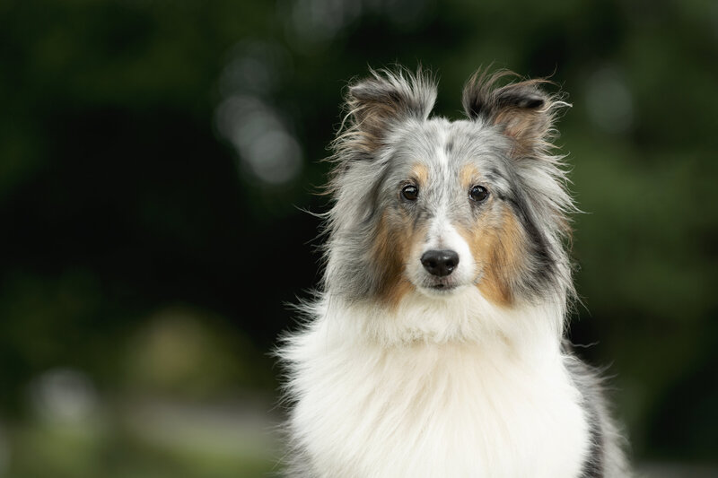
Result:
M282 357L310 476L577 477L589 449L560 351L563 310L476 288L398 309L320 300Z

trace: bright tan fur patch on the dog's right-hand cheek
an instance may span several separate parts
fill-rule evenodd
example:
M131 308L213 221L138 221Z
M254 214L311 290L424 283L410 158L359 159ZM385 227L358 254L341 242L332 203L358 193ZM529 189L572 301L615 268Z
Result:
M469 234L468 245L484 273L478 290L497 305L511 306L512 282L521 260L521 230L512 213L504 209L500 225L477 227Z

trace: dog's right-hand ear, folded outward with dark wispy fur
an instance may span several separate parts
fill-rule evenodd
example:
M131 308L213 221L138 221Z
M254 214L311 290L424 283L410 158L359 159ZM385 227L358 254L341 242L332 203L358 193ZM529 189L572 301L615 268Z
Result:
M546 80L528 80L497 87L509 71L487 74L477 71L467 82L463 92L463 106L468 117L497 126L514 140L512 153L530 154L544 150L551 139L552 125L558 107L569 106L565 101L541 91Z

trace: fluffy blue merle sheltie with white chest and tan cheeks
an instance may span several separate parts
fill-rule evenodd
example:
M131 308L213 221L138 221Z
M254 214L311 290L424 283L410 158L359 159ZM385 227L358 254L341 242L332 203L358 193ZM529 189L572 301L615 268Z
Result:
M300 477L624 477L575 291L545 80L479 70L466 119L421 69L351 84L332 143L324 275L278 350ZM505 84L504 84L505 83Z

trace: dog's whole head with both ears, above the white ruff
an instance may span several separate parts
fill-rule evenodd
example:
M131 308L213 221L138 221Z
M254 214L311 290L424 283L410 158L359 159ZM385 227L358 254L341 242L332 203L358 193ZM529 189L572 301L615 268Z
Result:
M467 119L430 118L425 74L372 72L349 87L328 222L329 292L396 304L408 292L451 298L477 288L497 305L571 290L560 158L550 154L566 103L540 80L497 86L475 74Z

